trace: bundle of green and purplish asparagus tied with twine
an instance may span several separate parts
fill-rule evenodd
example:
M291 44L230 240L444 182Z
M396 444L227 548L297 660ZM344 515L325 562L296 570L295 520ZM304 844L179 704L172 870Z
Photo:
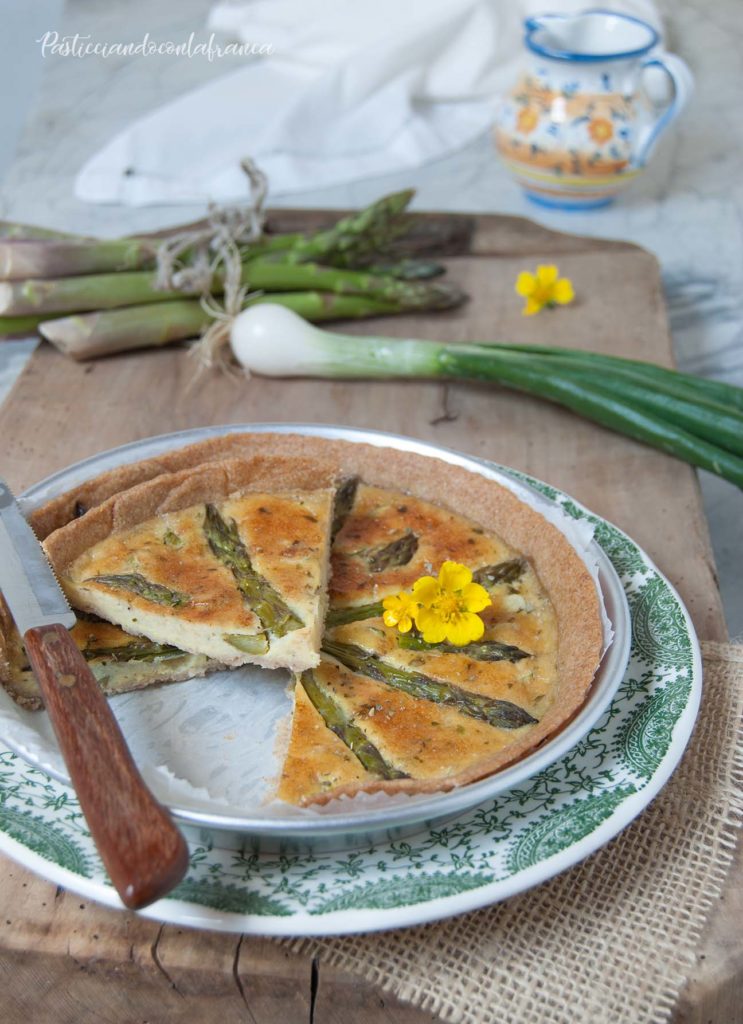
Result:
M427 258L406 212L412 195L386 196L325 230L266 233L241 247L244 305L275 302L314 322L458 305L465 294L433 280L444 268ZM440 233L430 240L441 241ZM196 337L210 323L202 290L163 290L156 273L162 242L0 223L0 338L38 330L84 359ZM223 290L215 271L208 292Z

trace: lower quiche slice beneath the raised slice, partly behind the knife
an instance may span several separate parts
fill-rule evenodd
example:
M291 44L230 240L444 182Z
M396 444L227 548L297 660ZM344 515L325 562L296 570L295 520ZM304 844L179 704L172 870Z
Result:
M204 654L189 654L146 637L132 636L118 626L94 615L78 612L71 630L98 685L107 696L143 689L155 683L175 683L194 679L224 668ZM0 684L23 708L43 707L41 690L23 639L0 596Z

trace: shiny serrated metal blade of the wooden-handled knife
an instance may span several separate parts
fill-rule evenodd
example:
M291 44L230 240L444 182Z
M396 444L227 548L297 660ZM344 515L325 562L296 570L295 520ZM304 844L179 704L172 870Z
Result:
M7 483L0 479L0 591L23 636L36 626L70 630L75 613L44 549Z

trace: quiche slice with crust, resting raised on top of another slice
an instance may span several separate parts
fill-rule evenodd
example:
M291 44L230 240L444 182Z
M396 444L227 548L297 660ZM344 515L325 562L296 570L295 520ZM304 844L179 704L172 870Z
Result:
M73 607L226 666L319 659L332 487L301 459L226 460L115 495L44 542Z

